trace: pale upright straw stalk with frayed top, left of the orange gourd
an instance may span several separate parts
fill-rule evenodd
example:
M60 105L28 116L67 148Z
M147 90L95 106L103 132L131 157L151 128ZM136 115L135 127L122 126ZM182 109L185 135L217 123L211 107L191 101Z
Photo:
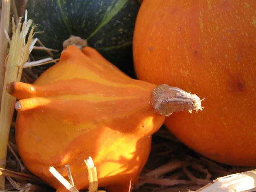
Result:
M12 41L10 43L9 54L6 58L7 62L4 62L6 64L4 85L12 81L20 81L23 65L29 57L34 27L32 27L26 43L26 35L32 25L32 20L27 21L26 15L27 12L23 24L21 23L22 18L19 19L17 29L15 29L14 18L12 18ZM0 111L0 168L5 168L6 166L9 130L12 123L15 101L16 98L10 96L6 89L3 89ZM4 189L4 186L5 178L3 175L0 175L0 189Z

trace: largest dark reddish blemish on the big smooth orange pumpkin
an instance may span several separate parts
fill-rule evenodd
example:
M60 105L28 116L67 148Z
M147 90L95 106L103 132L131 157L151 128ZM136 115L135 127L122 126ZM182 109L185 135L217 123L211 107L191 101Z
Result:
M229 71L227 71L227 74L230 76L230 80L227 81L228 90L235 94L244 93L246 91L246 84L241 77L241 73L233 76Z

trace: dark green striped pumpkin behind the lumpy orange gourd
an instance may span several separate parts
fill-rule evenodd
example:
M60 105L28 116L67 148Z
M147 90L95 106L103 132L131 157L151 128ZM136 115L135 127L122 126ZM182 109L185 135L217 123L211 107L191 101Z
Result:
M135 77L132 39L139 10L137 0L29 0L28 18L38 24L35 37L45 47L62 51L70 35L87 39L107 60ZM45 51L34 50L36 58Z

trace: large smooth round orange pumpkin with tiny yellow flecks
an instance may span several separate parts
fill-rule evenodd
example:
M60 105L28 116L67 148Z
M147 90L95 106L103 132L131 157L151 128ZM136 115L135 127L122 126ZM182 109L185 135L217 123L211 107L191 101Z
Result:
M255 12L255 0L143 0L134 32L138 79L206 98L201 113L174 113L167 128L236 166L256 166Z

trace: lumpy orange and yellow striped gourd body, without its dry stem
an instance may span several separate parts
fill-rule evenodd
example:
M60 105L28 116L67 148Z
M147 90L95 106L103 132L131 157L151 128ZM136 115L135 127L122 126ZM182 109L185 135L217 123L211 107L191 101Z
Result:
M128 191L148 158L151 134L165 118L149 103L156 85L129 78L93 48L82 53L70 45L32 87L14 93L23 105L16 141L26 167L63 192L49 166L67 178L69 164L76 188L87 189L84 160L90 156L99 186Z

